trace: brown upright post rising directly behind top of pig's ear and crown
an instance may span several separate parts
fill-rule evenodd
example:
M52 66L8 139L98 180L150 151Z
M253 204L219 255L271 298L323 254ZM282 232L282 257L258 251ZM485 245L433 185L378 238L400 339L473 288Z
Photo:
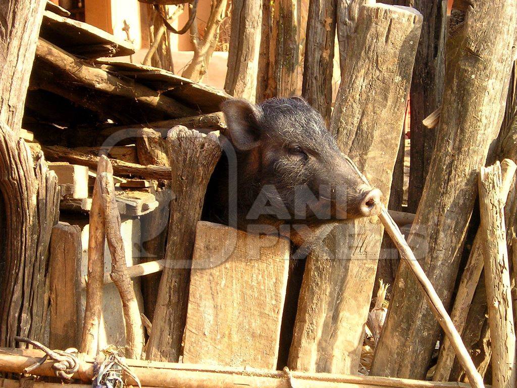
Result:
M279 0L269 5L271 12L271 33L267 46L267 66L259 66L265 70L267 77L261 85L263 101L272 97L291 97L298 94L299 73L299 13L298 0ZM271 9L273 8L273 9ZM264 14L263 17L266 17ZM263 25L264 28L264 25ZM262 37L264 39L264 36ZM262 51L262 49L261 49Z

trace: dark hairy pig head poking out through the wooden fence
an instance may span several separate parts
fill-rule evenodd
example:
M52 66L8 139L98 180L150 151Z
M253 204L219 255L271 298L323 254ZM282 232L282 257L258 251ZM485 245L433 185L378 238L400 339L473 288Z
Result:
M210 218L248 232L272 228L301 246L337 222L380 212L381 192L361 181L302 98L230 99L222 111L227 130L209 186Z

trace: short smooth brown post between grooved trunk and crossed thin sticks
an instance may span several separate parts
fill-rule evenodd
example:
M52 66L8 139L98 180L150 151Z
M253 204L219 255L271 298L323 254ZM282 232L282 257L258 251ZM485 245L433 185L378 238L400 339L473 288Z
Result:
M50 335L52 349L78 346L79 294L77 266L81 260L81 228L59 222L52 228L50 240Z

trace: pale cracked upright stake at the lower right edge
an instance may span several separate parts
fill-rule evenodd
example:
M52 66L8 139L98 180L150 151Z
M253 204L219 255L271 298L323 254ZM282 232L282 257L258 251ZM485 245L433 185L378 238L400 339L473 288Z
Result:
M515 328L508 252L506 249L505 201L500 195L499 162L479 172L479 208L485 264L486 297L492 342L492 386L513 388L516 382Z

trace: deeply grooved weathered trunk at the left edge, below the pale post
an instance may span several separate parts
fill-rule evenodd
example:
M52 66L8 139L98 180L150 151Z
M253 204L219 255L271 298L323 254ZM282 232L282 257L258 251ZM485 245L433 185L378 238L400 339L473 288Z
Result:
M21 108L20 108L21 109ZM42 154L0 121L0 344L43 340L49 303L48 248L59 214L59 186Z

